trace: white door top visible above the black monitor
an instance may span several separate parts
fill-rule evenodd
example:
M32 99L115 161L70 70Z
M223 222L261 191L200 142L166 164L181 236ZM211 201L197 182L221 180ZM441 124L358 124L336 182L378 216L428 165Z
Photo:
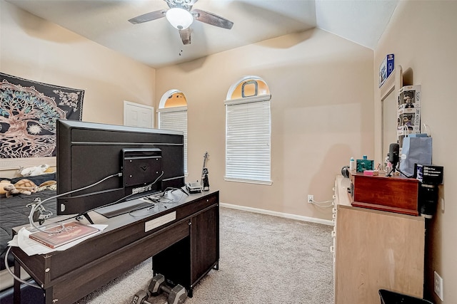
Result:
M124 100L124 125L154 127L154 108Z

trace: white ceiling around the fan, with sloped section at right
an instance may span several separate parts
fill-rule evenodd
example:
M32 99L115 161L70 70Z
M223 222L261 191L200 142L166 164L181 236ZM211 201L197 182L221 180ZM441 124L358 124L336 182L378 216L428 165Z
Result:
M165 19L127 20L160 9L162 0L6 0L153 68L318 27L375 48L398 0L199 0L194 9L233 21L227 30L195 21L191 44Z

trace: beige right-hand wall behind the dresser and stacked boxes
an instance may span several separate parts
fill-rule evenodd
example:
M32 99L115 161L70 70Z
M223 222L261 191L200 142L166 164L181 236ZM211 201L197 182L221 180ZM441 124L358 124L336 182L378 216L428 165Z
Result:
M383 56L395 53L411 84L422 85L421 120L433 136L433 163L445 168L438 212L426 223L426 296L434 303L441 300L433 293L433 271L443 278L443 303L457 303L456 14L457 1L400 1L374 60L377 68ZM378 117L378 100L375 108Z

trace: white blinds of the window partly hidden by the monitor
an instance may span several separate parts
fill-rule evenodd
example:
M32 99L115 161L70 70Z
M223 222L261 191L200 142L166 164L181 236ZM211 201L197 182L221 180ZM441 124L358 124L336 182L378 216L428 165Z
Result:
M184 174L187 174L187 109L159 109L159 129L184 132Z

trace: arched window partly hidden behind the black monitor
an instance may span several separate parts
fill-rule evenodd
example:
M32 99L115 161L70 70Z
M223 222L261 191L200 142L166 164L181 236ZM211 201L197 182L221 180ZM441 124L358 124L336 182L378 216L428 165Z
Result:
M179 90L169 90L159 103L159 129L184 132L184 174L187 175L187 100Z

